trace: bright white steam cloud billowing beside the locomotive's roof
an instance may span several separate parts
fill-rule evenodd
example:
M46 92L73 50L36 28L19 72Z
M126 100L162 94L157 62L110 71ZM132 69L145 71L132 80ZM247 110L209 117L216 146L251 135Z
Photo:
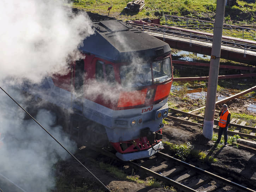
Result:
M0 76L40 81L79 59L82 40L93 34L88 16L72 16L64 1L2 0Z

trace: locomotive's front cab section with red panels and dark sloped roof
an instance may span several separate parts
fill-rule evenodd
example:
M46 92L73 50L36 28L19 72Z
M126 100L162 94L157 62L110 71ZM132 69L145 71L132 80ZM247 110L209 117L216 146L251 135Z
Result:
M93 25L95 34L79 48L87 73L83 115L105 127L121 160L149 157L163 148L171 48L121 20L105 18Z

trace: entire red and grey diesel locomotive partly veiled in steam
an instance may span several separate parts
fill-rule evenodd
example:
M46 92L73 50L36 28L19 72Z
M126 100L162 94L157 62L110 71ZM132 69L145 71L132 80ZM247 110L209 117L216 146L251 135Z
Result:
M71 62L65 75L24 90L72 112L68 132L82 143L97 147L107 141L124 161L150 157L163 149L171 48L121 20L87 14L94 34L79 47L84 59ZM65 121L58 114L58 121Z

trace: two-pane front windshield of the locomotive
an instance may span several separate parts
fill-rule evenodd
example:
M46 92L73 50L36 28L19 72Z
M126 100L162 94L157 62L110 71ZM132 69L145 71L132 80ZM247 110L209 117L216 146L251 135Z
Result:
M154 83L161 83L172 77L171 60L165 58L152 63L142 65L123 65L120 67L121 85L124 87L146 86ZM152 79L154 79L152 81Z

